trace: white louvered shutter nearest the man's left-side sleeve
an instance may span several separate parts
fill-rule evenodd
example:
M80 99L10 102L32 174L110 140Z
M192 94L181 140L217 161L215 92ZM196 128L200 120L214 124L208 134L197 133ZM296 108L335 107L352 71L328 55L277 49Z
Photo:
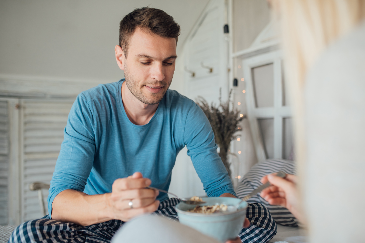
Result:
M23 100L23 175L22 219L37 219L41 215L37 192L29 190L35 181L50 183L55 163L64 139L73 100ZM48 191L43 190L45 206ZM46 207L47 209L47 207ZM48 211L46 211L48 214Z

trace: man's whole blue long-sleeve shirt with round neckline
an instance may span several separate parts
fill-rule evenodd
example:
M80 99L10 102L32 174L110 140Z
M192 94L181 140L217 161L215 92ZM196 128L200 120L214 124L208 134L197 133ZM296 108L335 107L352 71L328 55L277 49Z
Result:
M152 187L168 190L178 152L186 145L208 196L235 195L216 152L209 121L191 99L167 90L146 125L133 124L122 103L122 83L82 92L69 113L48 196L48 212L58 193L89 195L112 191L114 180L141 172ZM160 193L158 200L168 199Z

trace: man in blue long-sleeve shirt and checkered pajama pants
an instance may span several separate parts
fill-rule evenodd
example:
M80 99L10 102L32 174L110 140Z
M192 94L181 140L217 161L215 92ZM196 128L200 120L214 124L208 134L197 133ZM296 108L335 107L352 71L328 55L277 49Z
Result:
M28 223L42 225L32 231L34 241L107 242L138 215L157 211L177 218L178 200L146 187L168 190L185 145L207 195L235 197L208 119L193 101L168 89L179 34L178 24L160 9L135 9L120 22L115 56L125 80L84 91L74 102L49 190L49 218L57 221ZM267 234L269 226L260 227Z

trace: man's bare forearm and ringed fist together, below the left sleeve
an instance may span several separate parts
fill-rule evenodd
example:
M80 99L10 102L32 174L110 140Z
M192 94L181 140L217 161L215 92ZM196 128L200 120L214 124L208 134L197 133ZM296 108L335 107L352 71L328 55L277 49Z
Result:
M72 189L64 190L53 200L52 219L87 226L112 219L126 222L143 213L154 212L160 201L156 200L158 191L146 188L150 184L150 179L136 172L115 180L111 193L87 195ZM132 202L132 208L129 202Z

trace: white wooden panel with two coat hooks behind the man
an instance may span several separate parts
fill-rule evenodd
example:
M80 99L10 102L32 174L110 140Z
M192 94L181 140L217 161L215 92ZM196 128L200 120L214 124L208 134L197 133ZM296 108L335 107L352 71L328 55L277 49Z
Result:
M227 99L228 50L223 25L224 1L211 0L184 44L183 59L179 59L175 71L175 75L180 75L178 80L174 78L173 83L180 93L194 101L201 95L208 102L218 103L220 88L223 100ZM213 72L210 73L201 67L201 62L204 62L205 66L213 67ZM195 77L191 77L184 67L194 71ZM178 154L169 190L181 197L205 195L203 184L186 153L185 147Z

